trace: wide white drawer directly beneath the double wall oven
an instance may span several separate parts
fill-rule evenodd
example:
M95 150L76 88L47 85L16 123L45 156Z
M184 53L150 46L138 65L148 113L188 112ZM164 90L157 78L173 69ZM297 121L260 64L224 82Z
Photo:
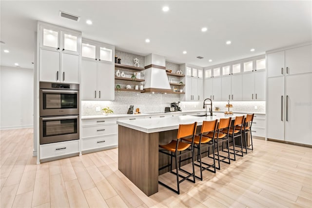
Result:
M40 145L40 160L79 152L79 140Z

